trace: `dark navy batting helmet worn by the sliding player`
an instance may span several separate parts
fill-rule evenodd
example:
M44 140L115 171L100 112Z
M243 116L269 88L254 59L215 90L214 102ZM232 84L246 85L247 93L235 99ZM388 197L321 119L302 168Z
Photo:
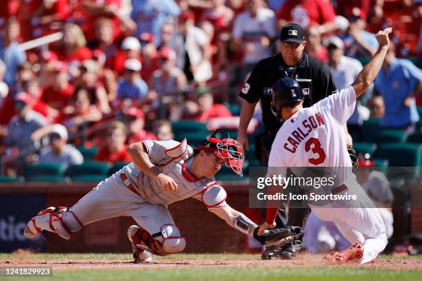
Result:
M279 79L272 86L271 110L277 118L281 119L281 108L303 100L303 91L296 80L285 77Z

